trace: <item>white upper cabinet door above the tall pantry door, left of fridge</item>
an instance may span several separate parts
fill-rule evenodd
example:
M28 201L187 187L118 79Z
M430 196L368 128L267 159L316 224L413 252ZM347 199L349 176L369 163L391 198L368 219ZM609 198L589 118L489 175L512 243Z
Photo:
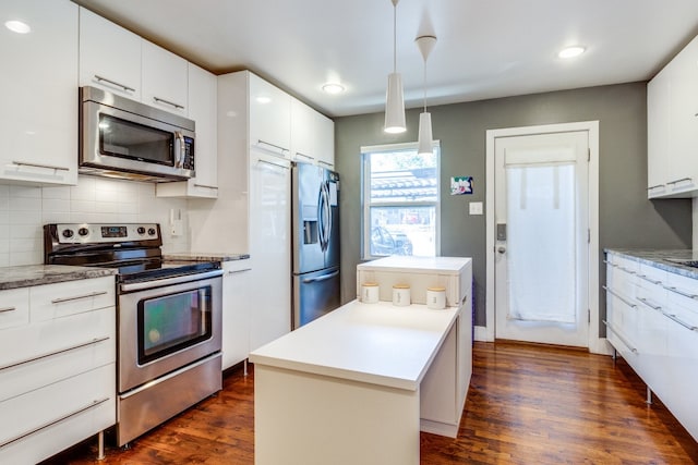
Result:
M290 157L291 97L250 73L250 145Z

